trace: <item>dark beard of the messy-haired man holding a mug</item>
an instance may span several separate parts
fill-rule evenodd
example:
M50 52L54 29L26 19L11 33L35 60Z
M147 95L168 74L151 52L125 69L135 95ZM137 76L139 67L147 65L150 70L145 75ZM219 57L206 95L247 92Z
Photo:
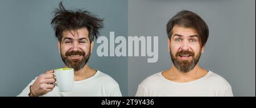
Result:
M71 55L81 55L82 59L81 60L68 59L68 56L71 56ZM90 57L90 50L89 50L89 53L87 54L84 51L68 51L65 53L65 55L62 55L61 53L61 59L64 62L64 64L69 68L73 68L75 71L82 69L84 65L88 62L89 57Z

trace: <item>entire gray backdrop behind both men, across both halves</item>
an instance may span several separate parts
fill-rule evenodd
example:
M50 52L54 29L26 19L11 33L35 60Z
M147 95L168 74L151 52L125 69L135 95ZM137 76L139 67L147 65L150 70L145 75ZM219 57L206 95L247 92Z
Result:
M50 25L60 1L0 0L0 96L18 95L49 69L63 67ZM101 35L158 36L159 59L98 57L95 44L89 64L112 76L124 96L134 96L144 78L171 67L166 23L180 10L191 10L210 30L200 65L224 77L235 96L255 96L255 1L77 0L67 9L87 9L105 18Z

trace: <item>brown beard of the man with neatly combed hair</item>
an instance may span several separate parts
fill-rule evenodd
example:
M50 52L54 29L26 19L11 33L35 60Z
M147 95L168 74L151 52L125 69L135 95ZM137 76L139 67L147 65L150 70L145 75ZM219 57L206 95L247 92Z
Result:
M181 50L177 52L175 55L172 55L172 52L170 50L170 55L172 59L172 63L174 64L174 67L176 67L180 72L187 73L193 68L195 68L196 64L198 63L200 56L201 56L201 49L198 55L195 56L194 52L191 51L184 51ZM178 57L180 55L189 55L192 57L192 60L179 60Z

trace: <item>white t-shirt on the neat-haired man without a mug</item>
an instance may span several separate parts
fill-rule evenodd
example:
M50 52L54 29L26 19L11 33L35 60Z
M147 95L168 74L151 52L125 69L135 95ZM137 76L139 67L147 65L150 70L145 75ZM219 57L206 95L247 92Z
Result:
M170 81L159 72L142 81L135 96L233 97L233 93L228 81L211 71L191 82Z

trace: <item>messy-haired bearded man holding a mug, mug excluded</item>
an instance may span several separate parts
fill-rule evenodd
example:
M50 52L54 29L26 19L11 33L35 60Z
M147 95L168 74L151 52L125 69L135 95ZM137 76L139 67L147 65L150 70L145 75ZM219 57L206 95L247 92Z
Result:
M110 76L88 65L103 20L85 10L66 10L60 2L51 22L61 58L67 68L73 68L75 78L70 92L60 92L55 86L54 70L36 77L18 96L122 96L118 83Z

